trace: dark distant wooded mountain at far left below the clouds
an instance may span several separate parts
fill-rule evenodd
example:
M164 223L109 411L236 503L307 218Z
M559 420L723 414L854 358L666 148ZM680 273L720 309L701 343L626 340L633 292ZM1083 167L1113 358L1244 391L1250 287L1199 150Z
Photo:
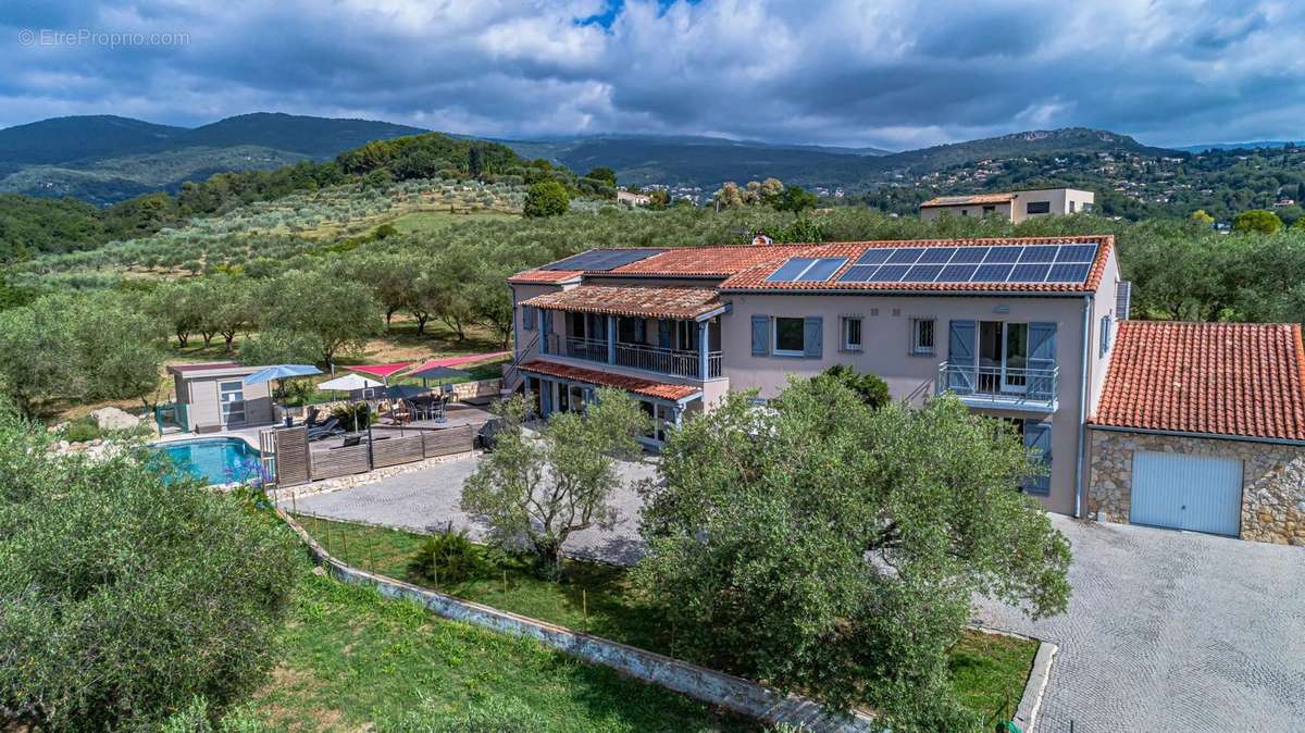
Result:
M112 116L56 117L0 130L0 192L110 205L215 173L325 160L425 130L369 120L257 112L194 129Z

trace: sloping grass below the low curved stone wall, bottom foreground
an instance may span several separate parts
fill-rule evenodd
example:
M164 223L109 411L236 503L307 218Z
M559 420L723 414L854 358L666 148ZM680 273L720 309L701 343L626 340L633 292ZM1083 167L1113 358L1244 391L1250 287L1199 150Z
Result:
M281 661L252 702L273 730L459 730L506 711L540 732L743 732L758 726L525 639L305 573ZM506 720L504 720L506 717Z

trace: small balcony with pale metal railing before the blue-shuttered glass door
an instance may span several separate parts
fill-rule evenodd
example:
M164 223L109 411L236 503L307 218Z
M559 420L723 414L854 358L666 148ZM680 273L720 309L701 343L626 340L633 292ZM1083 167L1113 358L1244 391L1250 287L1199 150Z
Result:
M934 391L950 391L970 407L1051 413L1058 407L1060 366L1021 369L944 361Z

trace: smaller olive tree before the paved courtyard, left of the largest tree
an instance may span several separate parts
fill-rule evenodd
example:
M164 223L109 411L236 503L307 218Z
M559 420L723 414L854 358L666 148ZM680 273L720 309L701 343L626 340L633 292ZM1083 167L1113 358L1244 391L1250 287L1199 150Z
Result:
M566 540L615 520L620 459L634 459L647 417L624 391L599 389L581 412L553 415L532 438L526 400L502 404L493 451L462 486L462 510L483 516L506 544L525 541L545 574L561 570Z

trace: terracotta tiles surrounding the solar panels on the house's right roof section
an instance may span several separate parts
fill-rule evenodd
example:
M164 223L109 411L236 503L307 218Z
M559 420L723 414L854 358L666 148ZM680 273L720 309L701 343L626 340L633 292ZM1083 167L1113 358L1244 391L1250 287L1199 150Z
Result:
M851 267L867 249L885 247L993 247L993 245L1024 245L1024 244L1096 244L1096 260L1088 271L1087 279L1082 283L873 283L851 282L843 283L838 279ZM720 283L722 292L729 291L890 291L890 292L1091 292L1101 282L1105 263L1109 261L1111 250L1114 248L1114 236L1041 236L1041 237L1002 237L1002 239L916 239L916 240L881 240L881 241L839 241L823 245L808 245L800 252L801 257L846 257L843 263L825 282L787 282L769 283L769 278L783 261L769 262L744 270ZM787 261L788 257L784 257Z

